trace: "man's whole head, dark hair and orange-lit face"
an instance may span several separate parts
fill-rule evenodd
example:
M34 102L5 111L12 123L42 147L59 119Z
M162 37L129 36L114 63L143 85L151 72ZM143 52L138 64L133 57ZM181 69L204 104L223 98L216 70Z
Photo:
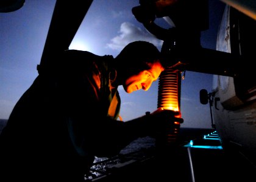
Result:
M131 42L115 59L119 65L120 84L127 93L140 89L148 90L164 69L157 47L145 41Z

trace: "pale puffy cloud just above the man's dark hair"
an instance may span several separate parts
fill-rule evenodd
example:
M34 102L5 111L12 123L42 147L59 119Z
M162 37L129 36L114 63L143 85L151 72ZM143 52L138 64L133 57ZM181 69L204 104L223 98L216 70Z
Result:
M143 31L129 22L123 22L120 26L119 35L112 38L107 47L113 50L122 50L130 42L138 40L151 42L158 48L163 44L162 40L155 38L148 31Z

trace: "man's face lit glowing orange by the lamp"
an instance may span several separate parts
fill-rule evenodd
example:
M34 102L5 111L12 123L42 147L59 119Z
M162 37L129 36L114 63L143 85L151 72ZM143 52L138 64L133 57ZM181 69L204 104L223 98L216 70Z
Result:
M150 70L144 70L137 75L129 76L123 84L124 90L127 93L132 93L136 90L148 90L151 87L153 81L156 81L160 73L163 71L163 67L159 62L152 64Z

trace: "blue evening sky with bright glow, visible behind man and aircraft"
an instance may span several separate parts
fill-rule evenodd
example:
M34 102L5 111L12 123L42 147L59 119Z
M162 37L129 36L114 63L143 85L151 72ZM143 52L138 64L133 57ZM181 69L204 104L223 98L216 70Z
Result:
M55 0L26 0L19 10L0 13L0 119L8 119L13 107L37 77ZM132 15L138 0L94 0L69 49L87 50L96 55L113 55L132 41L149 41L160 50L162 41L151 35ZM209 29L202 32L201 45L215 49L218 24L224 4L209 0ZM163 18L155 23L169 28ZM207 61L207 60L206 60ZM210 107L200 103L201 89L212 91L213 75L185 72L181 85L181 127L211 128ZM121 96L120 115L124 121L157 109L158 81L148 91Z

